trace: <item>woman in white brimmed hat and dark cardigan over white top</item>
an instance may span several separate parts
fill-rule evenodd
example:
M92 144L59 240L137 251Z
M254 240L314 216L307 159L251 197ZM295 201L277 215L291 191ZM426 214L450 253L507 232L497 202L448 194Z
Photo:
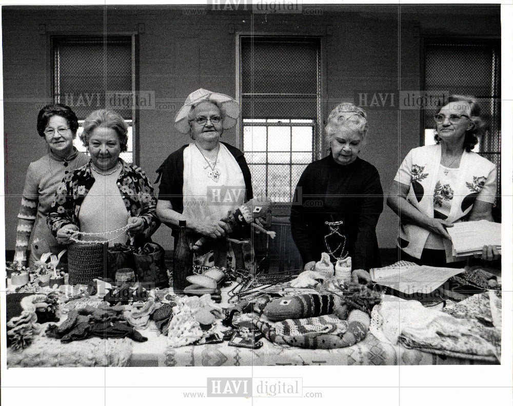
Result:
M228 228L221 219L253 197L244 154L220 141L239 114L239 104L230 96L205 89L189 94L176 114L175 128L192 141L171 153L157 170L162 177L157 215L173 229L173 237L179 221L185 220L189 233L218 240L217 266L226 266L222 237ZM174 241L176 245L177 238Z

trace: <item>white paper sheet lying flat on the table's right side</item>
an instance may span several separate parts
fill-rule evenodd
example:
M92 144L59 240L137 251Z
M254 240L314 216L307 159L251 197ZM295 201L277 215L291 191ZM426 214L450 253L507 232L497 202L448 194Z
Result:
M443 285L451 276L461 274L464 270L400 261L383 268L370 269L370 277L379 285L391 287L408 295L429 294Z

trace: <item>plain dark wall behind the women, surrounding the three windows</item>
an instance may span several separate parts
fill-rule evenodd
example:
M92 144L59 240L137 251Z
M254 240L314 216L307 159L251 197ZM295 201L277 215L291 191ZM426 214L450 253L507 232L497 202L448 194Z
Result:
M137 34L137 88L154 91L157 100L176 108L200 87L235 95L236 33L320 36L324 119L340 101L358 102L359 93L421 89L425 37L500 36L497 5L311 6L322 15L194 6L200 12L186 15L190 7L2 8L7 249L14 248L27 167L46 152L35 126L39 109L52 102L51 35ZM361 157L377 167L387 191L405 154L421 145L420 112L364 108L369 132ZM175 113L139 110L139 164L151 181L168 154L189 142L173 129ZM239 139L235 129L223 134L236 146ZM386 207L378 225L380 247L395 245L397 227L397 216ZM166 226L154 240L172 248Z

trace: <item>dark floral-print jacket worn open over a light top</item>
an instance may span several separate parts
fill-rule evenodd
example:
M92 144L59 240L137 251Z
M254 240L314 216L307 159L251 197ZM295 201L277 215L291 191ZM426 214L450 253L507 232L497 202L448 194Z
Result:
M143 239L148 239L160 226L156 216L156 199L148 178L136 172L120 159L123 167L117 178L117 187L131 217L141 217L144 222ZM55 198L47 217L48 227L54 236L67 224L80 227L78 212L94 183L91 162L69 173L57 187Z

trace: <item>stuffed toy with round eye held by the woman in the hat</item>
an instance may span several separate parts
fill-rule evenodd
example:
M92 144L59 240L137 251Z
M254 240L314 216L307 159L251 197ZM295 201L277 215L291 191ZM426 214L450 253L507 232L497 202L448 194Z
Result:
M228 216L222 218L221 221L224 221L228 225L229 231L227 233L227 237L230 238L230 241L248 239L251 233L250 224L253 223L255 219L265 219L270 207L271 202L269 200L259 200L254 198L244 203L234 212L229 213ZM266 233L271 238L276 236L274 231L267 231L256 223L253 223L253 227L262 233ZM211 245L207 243L207 241L206 237L200 238L191 247L192 252L196 255L207 253L212 249ZM210 242L212 241L213 240L210 240Z

